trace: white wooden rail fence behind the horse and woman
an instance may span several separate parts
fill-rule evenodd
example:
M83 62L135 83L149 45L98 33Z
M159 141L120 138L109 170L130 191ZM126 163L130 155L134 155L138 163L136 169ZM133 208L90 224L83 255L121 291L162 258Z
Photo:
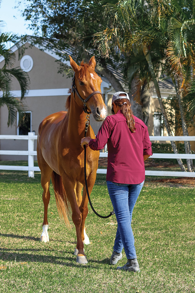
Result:
M34 171L40 171L39 167L34 166L34 156L37 151L34 151L34 140L37 136L34 132L28 132L28 135L0 135L0 139L24 139L28 140L27 151L4 151L0 150L0 155L25 155L28 156L28 166L6 166L0 165L0 170L20 170L28 171L29 177L34 177ZM195 141L195 136L150 136L152 141ZM108 153L100 153L100 157L108 157ZM152 158L166 159L195 159L195 154L153 154ZM151 158L150 157L150 158ZM106 174L106 169L97 169L97 173ZM195 172L180 172L180 171L149 171L146 175L152 176L176 176L176 177L195 177Z

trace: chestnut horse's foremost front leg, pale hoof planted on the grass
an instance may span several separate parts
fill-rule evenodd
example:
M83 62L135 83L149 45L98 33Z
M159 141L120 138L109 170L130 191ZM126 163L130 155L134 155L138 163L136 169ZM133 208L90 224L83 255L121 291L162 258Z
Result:
M66 195L68 197L68 201L70 202L70 206L72 209L72 220L75 225L76 235L77 235L77 263L85 264L87 263L87 258L84 253L84 244L81 237L80 226L82 222L82 214L77 204L77 195L76 195L76 183L73 183L70 178L64 174L62 176L63 185L65 188Z

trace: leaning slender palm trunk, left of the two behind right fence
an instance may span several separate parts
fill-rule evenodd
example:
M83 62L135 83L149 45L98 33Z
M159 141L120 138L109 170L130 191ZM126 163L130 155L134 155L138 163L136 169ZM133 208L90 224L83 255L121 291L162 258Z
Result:
M161 107L161 111L162 111L162 114L163 114L163 119L164 119L164 122L165 122L166 130L168 132L168 135L169 136L172 136L172 132L171 132L171 129L170 129L169 120L167 118L167 113L165 111L165 107L164 107L164 104L163 104L163 101L162 101L162 98L161 98L161 92L160 92L160 89L159 89L159 86L158 86L158 82L156 80L156 75L155 75L155 72L154 72L154 69L153 69L153 65L152 65L152 61L151 61L151 55L150 55L149 49L148 49L148 47L147 47L146 44L143 45L143 52L144 52L144 55L145 55L146 60L148 62L148 66L149 66L149 69L150 69L150 73L151 73L151 76L152 76L152 79L153 79L153 82L154 82L154 86L155 86L155 89L156 89L156 94L157 94L158 101L159 101L159 104L160 104L160 107ZM176 146L176 143L174 141L171 141L171 146L172 146L172 149L174 151L174 154L178 154L177 146ZM182 160L181 159L177 159L177 162L178 162L181 170L183 172L186 172L186 168L185 168Z

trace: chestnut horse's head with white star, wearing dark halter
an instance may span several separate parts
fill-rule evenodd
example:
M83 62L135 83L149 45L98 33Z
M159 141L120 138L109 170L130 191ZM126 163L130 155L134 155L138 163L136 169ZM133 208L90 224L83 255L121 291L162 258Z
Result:
M72 91L76 103L91 112L96 121L103 121L107 115L107 107L103 102L101 95L102 79L94 71L96 66L95 57L93 56L89 63L81 62L80 66L70 57L70 65L75 71Z

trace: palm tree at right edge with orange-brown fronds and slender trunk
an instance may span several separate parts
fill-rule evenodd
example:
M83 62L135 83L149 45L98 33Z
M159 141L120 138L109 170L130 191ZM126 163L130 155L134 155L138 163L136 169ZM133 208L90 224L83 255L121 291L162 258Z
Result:
M169 75L175 86L177 100L180 107L183 135L188 136L188 128L184 113L184 99L195 70L195 1L179 0L169 24L169 42L167 59ZM191 154L190 142L184 142L186 154ZM193 162L187 160L188 171L192 172Z

